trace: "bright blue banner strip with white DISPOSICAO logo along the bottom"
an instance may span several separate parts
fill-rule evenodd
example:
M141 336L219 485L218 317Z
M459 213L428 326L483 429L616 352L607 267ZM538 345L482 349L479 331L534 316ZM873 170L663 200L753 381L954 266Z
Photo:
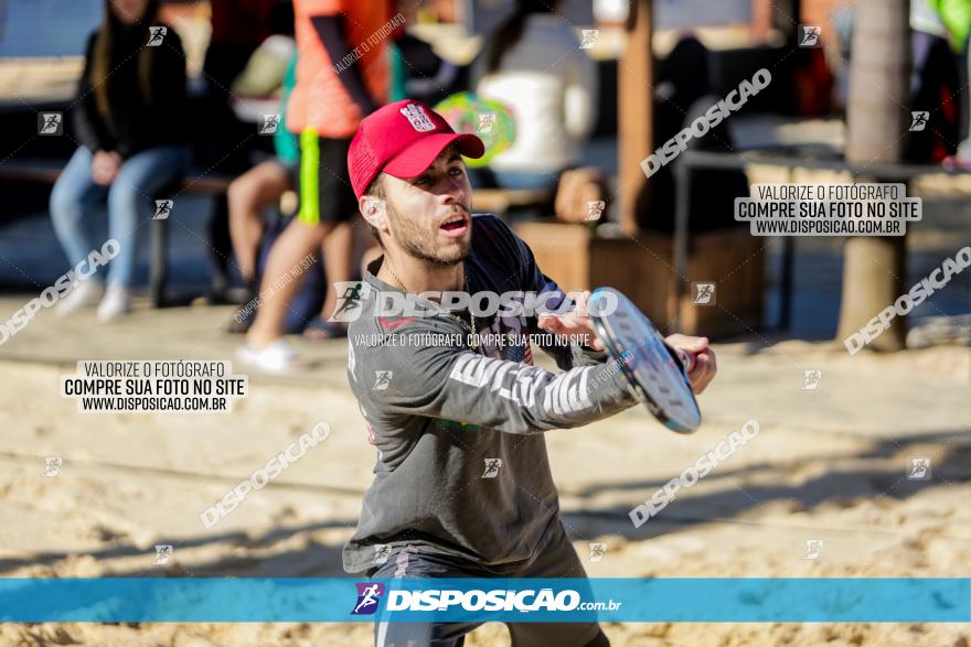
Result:
M0 622L967 623L971 579L0 579Z

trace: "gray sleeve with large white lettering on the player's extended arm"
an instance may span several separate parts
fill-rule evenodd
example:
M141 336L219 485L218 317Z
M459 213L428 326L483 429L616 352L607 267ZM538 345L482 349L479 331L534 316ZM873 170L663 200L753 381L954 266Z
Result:
M441 418L517 434L588 424L637 403L609 364L553 374L448 344L460 330L419 317L385 337L395 336L396 343L365 347L352 341L358 397L383 414ZM429 343L436 336L441 343Z

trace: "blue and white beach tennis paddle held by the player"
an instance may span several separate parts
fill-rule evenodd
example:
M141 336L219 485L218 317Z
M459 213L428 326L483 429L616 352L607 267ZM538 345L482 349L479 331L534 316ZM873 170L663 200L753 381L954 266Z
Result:
M612 288L597 288L587 308L608 353L651 414L672 431L696 430L702 413L683 359L651 321Z

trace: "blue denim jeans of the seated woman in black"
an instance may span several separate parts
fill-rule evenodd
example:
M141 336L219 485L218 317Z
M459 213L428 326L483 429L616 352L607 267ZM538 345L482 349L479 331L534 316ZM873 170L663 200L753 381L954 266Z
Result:
M125 160L110 186L92 179L94 155L81 147L61 173L51 192L51 219L61 247L72 266L100 249L92 218L108 208L108 238L121 244L121 251L108 265L108 283L128 287L138 257L138 229L154 215L156 192L181 176L186 151L182 147L157 147Z

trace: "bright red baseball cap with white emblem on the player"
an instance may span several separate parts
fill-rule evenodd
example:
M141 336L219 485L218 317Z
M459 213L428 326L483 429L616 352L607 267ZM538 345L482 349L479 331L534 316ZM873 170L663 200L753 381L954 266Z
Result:
M404 99L375 110L361 121L348 150L354 195L361 197L382 171L402 179L420 175L452 143L467 158L486 153L481 139L458 134L420 101Z

